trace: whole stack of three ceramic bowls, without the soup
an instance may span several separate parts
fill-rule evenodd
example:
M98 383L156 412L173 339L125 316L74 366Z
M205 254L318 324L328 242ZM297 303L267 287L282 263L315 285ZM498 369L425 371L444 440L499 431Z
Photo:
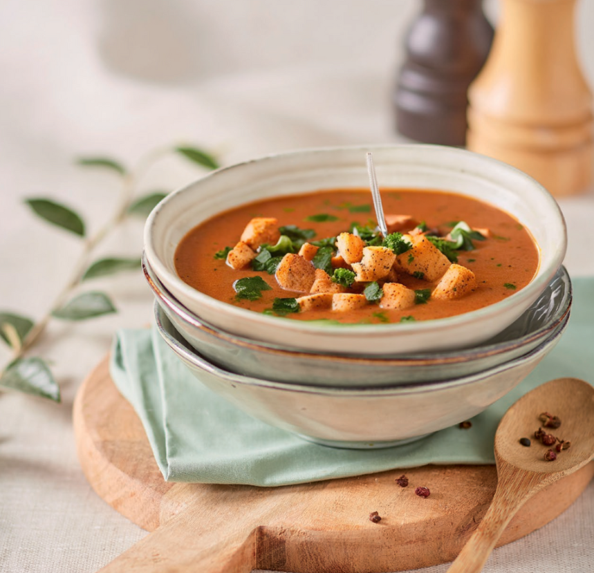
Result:
M454 317L333 326L238 308L176 273L176 248L199 223L261 198L364 187L369 150L382 186L456 191L511 214L539 249L532 281ZM143 269L156 297L156 326L197 383L307 440L369 448L467 420L530 373L567 325L565 249L555 200L521 171L449 147L351 147L254 160L174 192L147 220Z

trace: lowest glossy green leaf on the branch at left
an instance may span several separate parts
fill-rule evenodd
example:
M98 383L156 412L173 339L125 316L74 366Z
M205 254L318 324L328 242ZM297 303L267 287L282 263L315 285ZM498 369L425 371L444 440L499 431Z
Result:
M60 401L59 386L46 362L41 358L21 358L13 361L0 377L0 386L27 394Z

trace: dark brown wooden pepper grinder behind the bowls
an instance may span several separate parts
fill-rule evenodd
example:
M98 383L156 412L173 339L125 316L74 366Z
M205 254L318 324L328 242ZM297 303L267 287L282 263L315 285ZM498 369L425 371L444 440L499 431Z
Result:
M396 83L396 128L426 143L464 145L467 89L493 40L482 0L423 0L405 39Z

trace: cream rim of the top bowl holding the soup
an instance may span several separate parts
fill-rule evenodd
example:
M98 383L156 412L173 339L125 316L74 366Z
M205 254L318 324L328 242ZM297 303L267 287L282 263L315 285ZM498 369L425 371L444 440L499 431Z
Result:
M452 317L445 317L440 319L431 319L426 321L416 321L416 322L405 322L405 323L390 323L390 324L349 324L349 325L335 325L335 324L328 324L319 321L295 321L291 319L286 319L283 317L270 317L266 314L253 312L252 310L247 310L245 308L239 308L229 303L225 303L223 301L219 301L218 299L214 299L207 294L196 290L192 286L185 283L180 277L174 273L169 272L167 266L160 260L159 256L157 255L157 249L154 245L153 241L153 234L152 229L155 227L156 223L158 223L158 217L160 212L163 209L166 209L172 202L177 200L179 196L183 194L191 194L196 193L194 191L196 185L204 185L207 184L209 180L213 177L219 176L221 173L229 173L232 171L236 171L238 169L243 169L248 165L252 165L254 163L269 163L274 162L275 160L279 159L291 159L291 158L299 158L304 156L312 156L315 154L320 153L340 153L341 151L346 152L354 152L360 151L362 155L366 151L407 151L412 149L418 149L420 151L425 151L426 153L443 153L443 154L450 154L451 156L468 156L469 154L472 156L473 161L478 162L481 165L487 167L488 165L493 165L501 173L508 173L510 176L514 176L515 178L519 178L519 180L524 180L526 185L529 185L533 189L536 189L540 194L539 203L545 204L550 209L552 213L554 213L560 223L561 226L561 239L559 241L559 249L557 250L555 256L548 262L546 267L543 267L543 257L541 254L541 247L537 244L537 248L539 249L539 266L537 267L537 271L535 273L535 277L526 285L526 287L522 288L518 292L514 292L510 294L509 297L501 301L497 301L496 303L492 303L488 306L484 306L483 308L479 308L476 310L472 310L469 312L463 312L461 314L456 314ZM474 168L475 171L479 171L479 167ZM528 229L530 230L530 229ZM317 148L310 148L310 149L297 149L295 151L286 151L281 153L270 153L266 156L261 156L259 158L253 158L250 160L245 160L243 162L238 162L233 165L229 165L227 167L221 167L210 173L207 173L205 176L199 178L198 180L194 180L190 182L188 185L181 187L180 189L176 189L171 194L167 195L163 200L154 207L154 209L149 214L147 221L145 223L144 229L144 248L145 253L147 255L147 259L151 263L151 267L154 270L156 276L165 277L167 281L170 281L172 284L176 285L176 288L183 292L183 294L188 297L189 299L194 299L195 301L199 301L201 304L206 304L210 306L210 308L214 312L222 312L224 314L231 314L237 320L240 321L248 321L248 323L257 323L260 326L279 326L281 324L281 328L285 330L288 334L290 332L299 332L302 335L331 335L335 338L350 338L353 335L356 336L364 336L364 335L392 335L395 333L402 334L402 335L420 335L425 332L435 332L436 330L443 332L447 331L449 328L461 328L465 326L469 321L481 321L481 320L488 320L489 317L494 317L502 312L504 309L513 308L514 306L521 306L523 303L525 304L526 301L534 296L534 292L541 292L546 288L546 285L550 282L550 280L557 272L561 262L564 259L566 249L567 249L567 227L563 213L557 201L553 196L547 191L547 189L541 185L537 180L530 177L527 173L520 171L516 167L512 167L505 162L490 158L488 156L484 156L480 153L474 153L473 151L468 151L467 149L461 149L457 147L449 147L445 145L435 145L435 144L373 144L373 145L349 145L349 146L335 146L335 147L317 147ZM282 323L279 321L283 321Z

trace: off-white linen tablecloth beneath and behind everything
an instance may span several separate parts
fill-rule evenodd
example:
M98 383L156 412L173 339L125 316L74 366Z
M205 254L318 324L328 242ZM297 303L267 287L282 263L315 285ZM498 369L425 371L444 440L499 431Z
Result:
M23 203L50 196L91 232L118 195L106 171L74 165L112 156L133 165L189 142L225 164L334 144L396 142L389 97L414 0L116 0L0 4L0 309L39 318L81 244ZM496 21L498 6L487 3ZM594 2L578 5L577 49L594 84ZM554 41L552 39L551 41ZM168 156L138 191L175 189L201 171ZM566 266L593 275L594 189L560 202ZM129 220L97 256L140 256ZM77 462L71 408L117 328L151 321L139 272L95 283L118 314L54 321L36 353L52 361L62 404L0 394L0 571L93 572L146 532L104 503ZM1 364L9 359L0 349ZM594 570L594 484L563 515L496 549L485 572ZM448 565L425 570L440 573Z

